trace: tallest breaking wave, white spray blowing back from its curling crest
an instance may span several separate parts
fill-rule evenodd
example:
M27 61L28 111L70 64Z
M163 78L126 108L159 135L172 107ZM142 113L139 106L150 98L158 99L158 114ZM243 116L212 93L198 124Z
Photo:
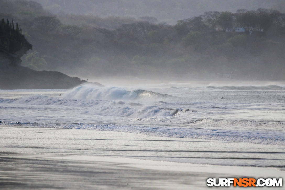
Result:
M86 84L67 91L63 97L81 100L134 100L137 98L171 98L173 96L141 89L127 91L114 86L99 87Z

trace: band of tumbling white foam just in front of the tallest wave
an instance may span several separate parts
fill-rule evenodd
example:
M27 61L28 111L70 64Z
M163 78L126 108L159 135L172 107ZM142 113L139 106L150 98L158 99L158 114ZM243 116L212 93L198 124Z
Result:
M87 107L87 110L82 114L132 118L178 116L179 114L189 111L188 109L181 108L162 108L161 104L168 104L167 102L156 102L149 105L143 105L138 102L121 100L76 100L41 95L19 99L0 99L0 103Z

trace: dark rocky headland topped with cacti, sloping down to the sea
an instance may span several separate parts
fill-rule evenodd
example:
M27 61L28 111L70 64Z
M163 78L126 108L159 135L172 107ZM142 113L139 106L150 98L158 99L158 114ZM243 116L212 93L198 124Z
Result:
M78 77L70 77L56 71L36 71L21 66L21 56L32 49L21 34L18 23L0 23L0 89L68 89L85 83ZM99 83L94 83L101 85Z

